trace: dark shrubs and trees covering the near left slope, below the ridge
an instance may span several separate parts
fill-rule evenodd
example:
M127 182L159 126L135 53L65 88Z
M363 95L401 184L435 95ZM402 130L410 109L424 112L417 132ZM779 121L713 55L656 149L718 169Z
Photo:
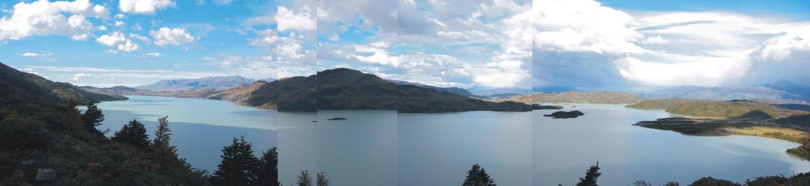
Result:
M85 127L88 122L75 105L27 103L15 109L0 105L0 110L5 111L0 115L0 185L207 184L206 173L177 154L161 156L160 150L124 140L138 138L124 137L131 135L148 142L145 129L134 127L134 122L125 127L128 132L118 131L115 140L108 140L95 127ZM35 181L40 168L52 169L57 176Z

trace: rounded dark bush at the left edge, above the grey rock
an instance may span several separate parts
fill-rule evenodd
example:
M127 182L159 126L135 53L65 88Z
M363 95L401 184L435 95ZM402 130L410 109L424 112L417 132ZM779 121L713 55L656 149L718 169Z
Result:
M0 148L45 149L53 136L45 131L45 124L17 116L8 116L0 121Z

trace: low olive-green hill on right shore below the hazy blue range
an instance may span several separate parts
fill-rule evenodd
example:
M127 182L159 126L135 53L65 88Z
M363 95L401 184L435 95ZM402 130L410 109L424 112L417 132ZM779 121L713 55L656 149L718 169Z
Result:
M780 118L806 113L747 100L651 99L628 105L627 108L665 110L672 114L716 118Z

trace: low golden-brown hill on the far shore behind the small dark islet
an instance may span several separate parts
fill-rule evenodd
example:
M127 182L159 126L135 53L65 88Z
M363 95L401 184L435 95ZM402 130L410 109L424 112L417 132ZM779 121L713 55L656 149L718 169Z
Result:
M638 95L616 91L569 91L562 93L534 93L516 95L499 101L515 101L524 104L573 103L573 104L635 104L642 101Z

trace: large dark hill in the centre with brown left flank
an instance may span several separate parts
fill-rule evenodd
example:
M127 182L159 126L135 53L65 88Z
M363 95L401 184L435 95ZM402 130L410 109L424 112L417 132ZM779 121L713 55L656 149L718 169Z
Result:
M192 93L188 91L186 93ZM279 111L382 109L399 112L531 111L531 105L494 103L415 85L398 85L357 70L324 70L309 77L254 82L221 91L197 91L199 97Z

